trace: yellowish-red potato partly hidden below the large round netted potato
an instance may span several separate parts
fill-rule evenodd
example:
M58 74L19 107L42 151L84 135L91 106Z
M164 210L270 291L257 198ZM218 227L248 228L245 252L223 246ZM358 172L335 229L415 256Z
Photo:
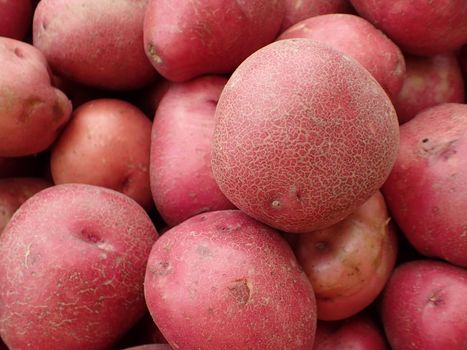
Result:
M343 221L300 235L295 253L313 285L318 319L357 314L381 293L397 256L397 238L376 192Z

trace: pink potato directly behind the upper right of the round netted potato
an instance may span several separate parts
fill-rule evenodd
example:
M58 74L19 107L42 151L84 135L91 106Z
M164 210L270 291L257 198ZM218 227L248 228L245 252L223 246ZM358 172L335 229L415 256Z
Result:
M281 39L314 39L357 60L380 83L391 100L402 88L404 56L399 48L365 19L347 14L316 16L295 24Z

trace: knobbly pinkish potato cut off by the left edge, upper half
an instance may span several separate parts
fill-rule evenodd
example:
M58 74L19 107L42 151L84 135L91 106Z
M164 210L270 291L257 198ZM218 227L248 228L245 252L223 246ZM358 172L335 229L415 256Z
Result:
M0 157L42 152L68 121L71 103L50 83L33 46L0 37Z

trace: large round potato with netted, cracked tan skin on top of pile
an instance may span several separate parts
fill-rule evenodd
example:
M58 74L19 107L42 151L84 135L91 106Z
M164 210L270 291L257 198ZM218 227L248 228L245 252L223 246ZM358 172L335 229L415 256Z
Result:
M328 227L383 184L397 156L391 101L353 59L309 39L272 43L229 79L212 169L239 209L289 232Z

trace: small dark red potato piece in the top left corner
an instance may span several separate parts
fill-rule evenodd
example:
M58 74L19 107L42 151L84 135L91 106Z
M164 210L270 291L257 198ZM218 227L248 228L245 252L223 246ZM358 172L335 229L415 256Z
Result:
M31 26L31 0L2 0L0 14L0 36L22 40Z

